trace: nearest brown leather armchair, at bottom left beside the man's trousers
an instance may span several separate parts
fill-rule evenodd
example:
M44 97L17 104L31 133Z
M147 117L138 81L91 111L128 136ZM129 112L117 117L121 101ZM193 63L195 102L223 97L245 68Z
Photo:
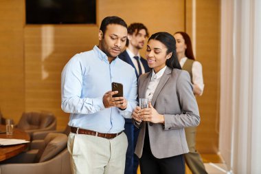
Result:
M45 140L32 141L31 150L0 165L1 174L71 174L67 135L49 133Z

